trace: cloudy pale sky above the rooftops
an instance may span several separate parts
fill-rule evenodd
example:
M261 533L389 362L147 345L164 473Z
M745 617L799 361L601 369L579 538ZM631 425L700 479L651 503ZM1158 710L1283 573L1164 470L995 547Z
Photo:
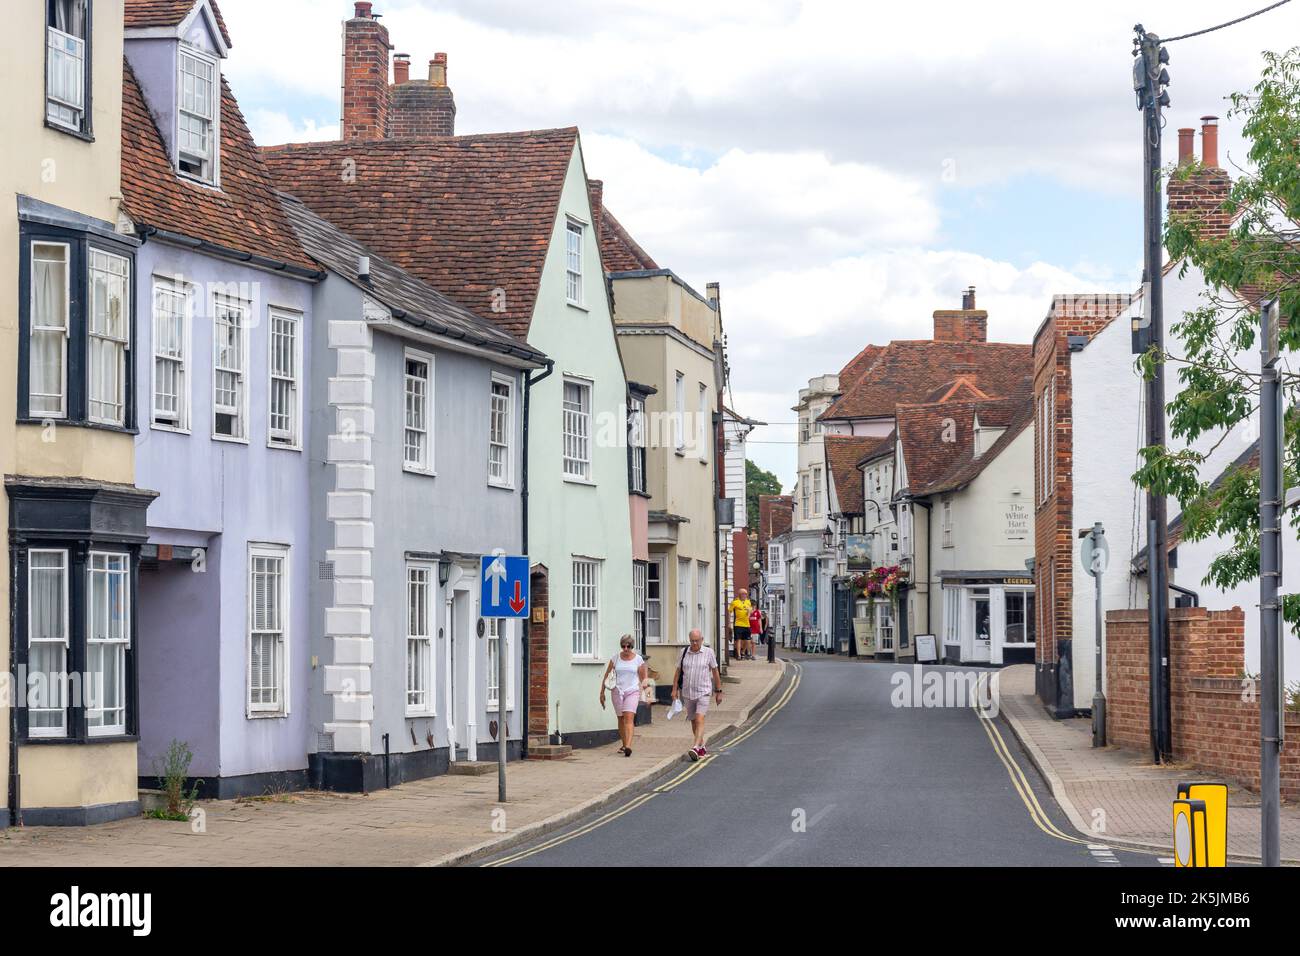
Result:
M346 0L221 0L260 143L338 135ZM1175 36L1264 0L376 0L412 73L448 55L458 131L577 125L589 173L655 259L723 289L733 407L789 488L790 406L867 342L928 337L978 289L1027 342L1054 293L1140 273L1135 20ZM286 38L292 38L286 42ZM1173 130L1223 117L1300 4L1170 44Z

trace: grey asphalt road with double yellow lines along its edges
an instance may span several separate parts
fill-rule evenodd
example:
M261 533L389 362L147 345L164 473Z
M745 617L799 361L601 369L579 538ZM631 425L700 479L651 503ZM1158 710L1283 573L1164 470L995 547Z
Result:
M970 706L894 706L898 666L801 658L789 670L793 695L775 695L753 734L489 864L1158 865L1065 839L1075 831L1009 728Z

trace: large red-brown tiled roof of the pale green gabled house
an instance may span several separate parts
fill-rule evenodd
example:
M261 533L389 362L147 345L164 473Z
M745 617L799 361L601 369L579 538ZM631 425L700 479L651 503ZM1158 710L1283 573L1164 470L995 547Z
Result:
M523 339L576 147L568 127L298 143L261 155L285 193ZM494 290L504 311L493 311Z

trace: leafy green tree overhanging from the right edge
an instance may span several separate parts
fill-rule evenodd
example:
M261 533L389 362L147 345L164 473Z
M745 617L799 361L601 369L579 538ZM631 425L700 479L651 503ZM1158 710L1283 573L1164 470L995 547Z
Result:
M1187 216L1171 216L1165 228L1170 259L1180 274L1195 265L1206 281L1205 306L1170 325L1161 354L1154 347L1139 358L1150 376L1160 363L1176 369L1166 376L1169 446L1141 451L1134 480L1145 489L1175 498L1183 510L1183 537L1222 537L1227 549L1210 563L1204 584L1227 589L1260 574L1260 470L1257 457L1234 468L1225 480L1201 467L1228 436L1258 434L1258 338L1261 299L1278 297L1282 347L1300 346L1300 246L1292 217L1300 212L1300 48L1265 53L1260 82L1249 94L1231 96L1230 116L1239 117L1249 144L1249 169L1232 183L1225 211L1234 225L1226 237L1202 234ZM1173 173L1190 177L1195 164ZM1283 368L1286 486L1296 484L1300 423L1295 410L1300 381ZM1300 512L1291 514L1300 531ZM1286 619L1300 623L1300 596L1284 602Z

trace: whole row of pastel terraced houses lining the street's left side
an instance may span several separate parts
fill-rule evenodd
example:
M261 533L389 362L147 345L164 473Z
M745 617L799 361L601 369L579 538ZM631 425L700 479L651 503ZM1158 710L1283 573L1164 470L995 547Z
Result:
M623 633L660 672L716 640L720 294L577 129L456 135L446 55L412 78L370 3L341 139L270 148L214 0L9 14L0 823L134 814L172 741L221 797L559 756L614 739ZM525 620L480 615L498 549Z

